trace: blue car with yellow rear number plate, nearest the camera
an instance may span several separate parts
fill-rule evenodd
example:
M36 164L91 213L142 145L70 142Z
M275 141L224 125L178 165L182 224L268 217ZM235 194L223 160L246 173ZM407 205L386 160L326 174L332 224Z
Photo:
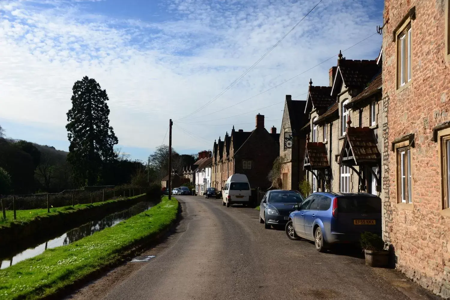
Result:
M381 199L366 193L313 193L289 215L286 234L314 241L323 252L337 243L358 243L360 234L381 235Z

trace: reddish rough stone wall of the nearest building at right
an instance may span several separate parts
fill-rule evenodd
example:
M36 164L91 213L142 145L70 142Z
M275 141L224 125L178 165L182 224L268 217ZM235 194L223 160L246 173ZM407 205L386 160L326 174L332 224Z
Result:
M412 81L396 85L393 31L415 6L412 27ZM386 0L383 29L383 237L392 244L396 268L432 292L450 297L450 217L441 215L439 143L432 128L449 121L450 69L445 53L445 1ZM411 148L412 210L397 199L394 139L415 134Z

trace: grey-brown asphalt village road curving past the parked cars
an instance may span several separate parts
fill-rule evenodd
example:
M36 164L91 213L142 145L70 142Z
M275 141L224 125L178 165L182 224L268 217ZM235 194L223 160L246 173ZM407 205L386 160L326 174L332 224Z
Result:
M141 255L155 257L128 262L66 299L438 299L400 275L387 280L357 253L319 253L312 242L264 229L257 210L177 198L176 233Z

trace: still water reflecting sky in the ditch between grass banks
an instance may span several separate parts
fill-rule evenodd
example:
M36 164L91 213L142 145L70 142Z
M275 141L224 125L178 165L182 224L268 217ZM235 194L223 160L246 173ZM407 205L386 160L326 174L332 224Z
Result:
M86 224L81 225L80 227L72 228L63 235L50 239L47 242L42 243L38 246L29 248L20 253L14 253L9 257L0 258L1 259L0 269L8 268L13 264L17 264L19 261L26 260L27 258L39 255L46 249L68 245L70 243L78 241L83 237L90 236L94 232L117 225L119 222L123 220L129 219L134 215L138 215L141 212L144 212L145 210L149 210L154 205L155 205L154 202L147 202L147 201L139 202L126 210L117 211L115 213L112 213L111 215L107 215L103 219L93 220Z

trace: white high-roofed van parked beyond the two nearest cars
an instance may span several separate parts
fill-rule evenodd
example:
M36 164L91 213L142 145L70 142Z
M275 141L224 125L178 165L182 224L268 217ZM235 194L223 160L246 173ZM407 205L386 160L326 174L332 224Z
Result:
M252 190L248 183L247 176L244 174L234 174L229 176L225 182L224 190L222 191L222 204L229 207L232 204L243 204L247 206L250 204L250 196Z

